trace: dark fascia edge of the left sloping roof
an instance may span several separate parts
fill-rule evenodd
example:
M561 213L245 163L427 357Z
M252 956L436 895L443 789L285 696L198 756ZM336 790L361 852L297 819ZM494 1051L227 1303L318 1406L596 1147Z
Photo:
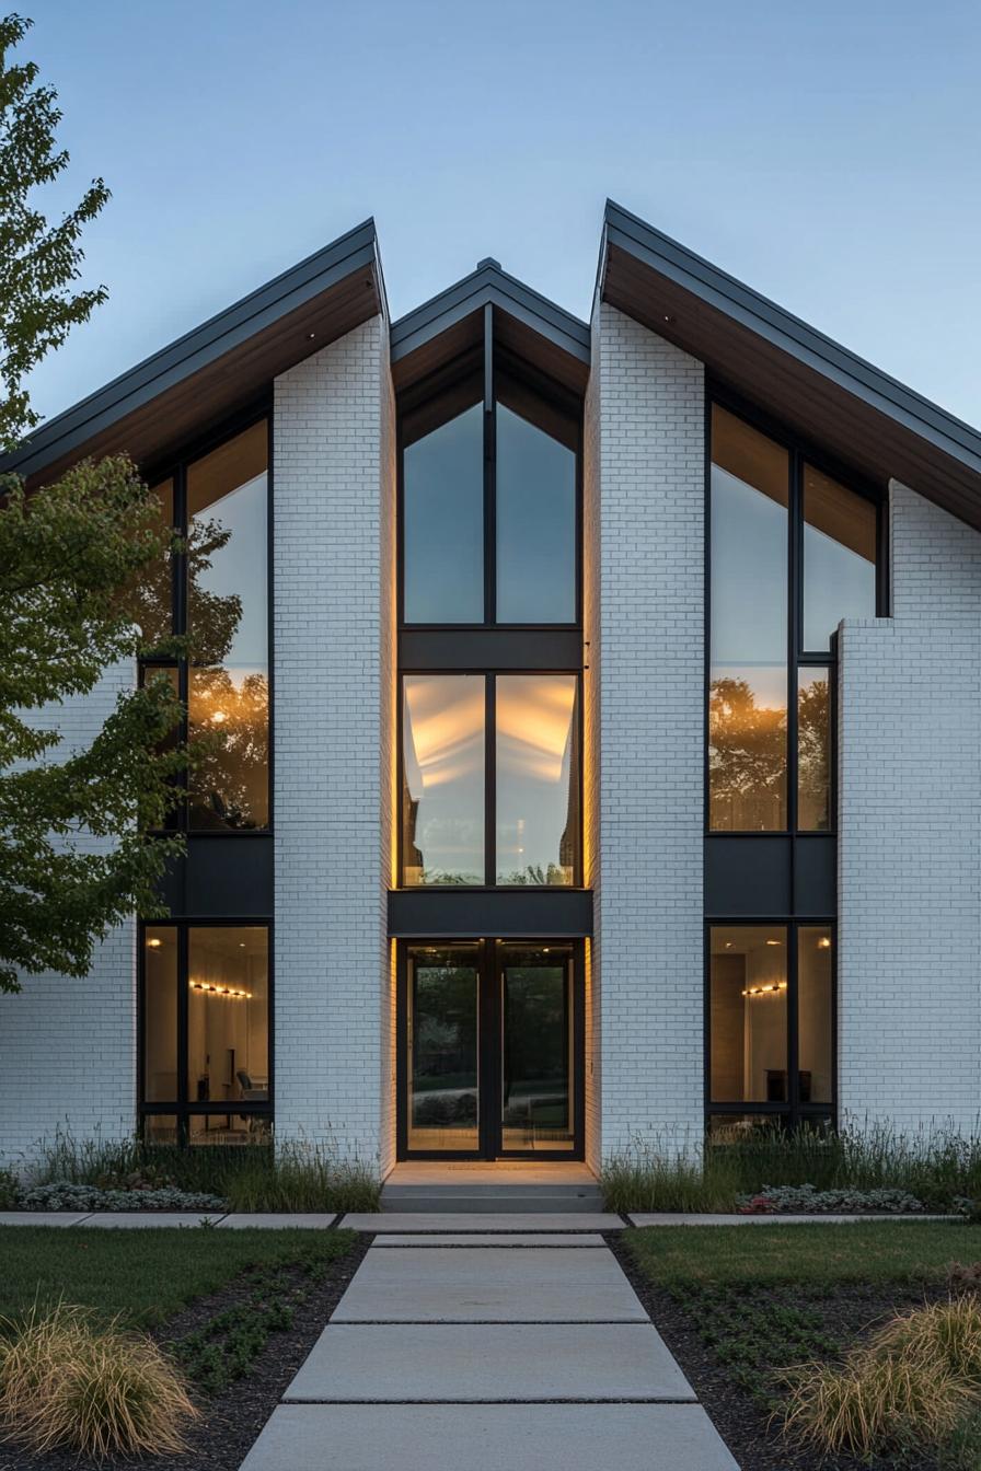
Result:
M374 219L366 219L224 312L218 312L207 322L178 337L168 347L146 357L135 368L113 378L71 409L49 419L16 450L0 457L0 472L35 475L66 455L82 455L85 443L93 435L110 428L168 388L191 378L225 353L234 352L256 332L313 302L322 291L357 271L371 274L375 313L384 310L385 294ZM318 343L319 346L324 343Z

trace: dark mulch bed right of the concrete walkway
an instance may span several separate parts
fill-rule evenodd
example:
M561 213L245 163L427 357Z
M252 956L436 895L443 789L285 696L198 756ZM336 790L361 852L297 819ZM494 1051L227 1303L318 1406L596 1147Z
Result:
M610 1233L606 1242L743 1471L897 1471L894 1458L860 1462L853 1456L822 1458L813 1450L796 1453L780 1428L769 1424L768 1412L732 1381L727 1365L704 1343L696 1315L637 1269L619 1233ZM896 1312L946 1296L946 1287L896 1284L862 1289L850 1283L838 1297L807 1296L806 1303L821 1312L828 1334L847 1347ZM752 1300L765 1312L768 1302L785 1303L788 1293L755 1289ZM905 1459L902 1467L903 1471L937 1471L937 1462L930 1458Z

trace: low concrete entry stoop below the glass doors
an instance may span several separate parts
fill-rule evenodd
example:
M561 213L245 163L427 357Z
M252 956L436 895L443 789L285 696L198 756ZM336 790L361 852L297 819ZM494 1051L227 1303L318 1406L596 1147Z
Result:
M410 1161L396 1165L381 1192L387 1212L532 1215L602 1211L603 1197L585 1165Z

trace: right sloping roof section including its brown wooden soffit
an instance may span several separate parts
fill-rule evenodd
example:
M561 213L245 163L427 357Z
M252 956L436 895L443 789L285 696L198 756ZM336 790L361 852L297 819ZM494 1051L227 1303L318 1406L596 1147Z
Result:
M805 440L981 527L981 434L612 200L603 300Z

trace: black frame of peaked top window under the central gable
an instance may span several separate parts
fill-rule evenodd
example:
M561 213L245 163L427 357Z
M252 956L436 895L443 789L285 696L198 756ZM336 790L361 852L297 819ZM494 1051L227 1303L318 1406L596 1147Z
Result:
M569 390L562 388L552 378L534 369L527 362L518 362L506 349L496 343L494 337L494 307L484 307L484 340L479 359L474 353L463 355L450 369L441 369L432 380L413 385L409 400L402 400L397 406L396 427L396 603L400 633L447 633L457 634L487 633L500 630L513 633L516 630L538 631L541 634L575 633L582 628L582 400ZM571 622L535 622L515 624L497 619L497 375L500 371L521 381L531 393L552 403L575 428L575 616ZM484 406L484 618L481 622L410 622L404 615L404 434L403 416L406 402L412 406L438 399L449 387L457 381L481 375L482 391L475 403Z

